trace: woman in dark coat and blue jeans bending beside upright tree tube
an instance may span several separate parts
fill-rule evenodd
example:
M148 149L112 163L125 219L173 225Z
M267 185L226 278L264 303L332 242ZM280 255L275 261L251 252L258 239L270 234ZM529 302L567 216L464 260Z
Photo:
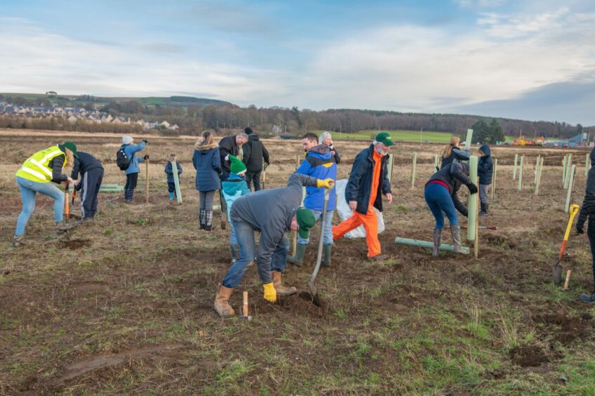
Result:
M469 188L469 194L476 194L477 186L469 180L469 164L459 164L452 162L440 171L434 173L424 190L426 203L428 204L434 218L436 218L436 227L433 233L433 252L432 256L438 256L440 247L440 234L444 228L444 215L446 213L450 223L450 233L452 235L452 244L455 252L461 251L461 229L459 227L459 218L457 211L463 216L467 216L467 208L459 200L457 192L461 185ZM455 211L455 209L457 211Z

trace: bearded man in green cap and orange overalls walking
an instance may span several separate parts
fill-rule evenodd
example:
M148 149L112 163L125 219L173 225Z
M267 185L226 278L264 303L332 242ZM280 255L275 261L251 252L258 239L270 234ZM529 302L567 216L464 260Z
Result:
M382 194L388 203L393 202L391 183L388 181L386 159L393 140L386 132L379 133L374 142L362 150L353 161L349 180L345 188L345 199L353 211L350 218L333 227L333 240L363 225L366 230L367 257L370 260L384 260L378 240L378 216L374 208L382 211Z

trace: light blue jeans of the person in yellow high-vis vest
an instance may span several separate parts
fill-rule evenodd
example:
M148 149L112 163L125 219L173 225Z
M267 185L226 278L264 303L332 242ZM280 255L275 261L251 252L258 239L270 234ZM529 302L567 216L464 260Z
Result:
M35 197L38 192L53 198L53 216L55 222L60 223L63 220L64 193L52 182L39 183L17 176L17 185L22 200L22 211L18 215L15 237L25 234L25 227L27 227L33 209L35 209Z

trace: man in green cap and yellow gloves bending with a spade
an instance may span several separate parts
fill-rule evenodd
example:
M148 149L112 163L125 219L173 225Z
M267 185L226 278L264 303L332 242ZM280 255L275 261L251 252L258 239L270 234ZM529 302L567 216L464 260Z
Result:
M281 272L287 265L288 230L307 238L315 218L308 209L299 208L303 186L331 188L334 180L320 180L298 173L289 176L287 187L260 190L235 200L230 211L231 223L240 245L240 258L231 265L218 287L215 310L221 317L234 315L229 305L233 289L240 284L248 265L254 261L263 282L264 298L271 303L278 296L296 293L296 288L281 284ZM254 232L261 233L256 251Z

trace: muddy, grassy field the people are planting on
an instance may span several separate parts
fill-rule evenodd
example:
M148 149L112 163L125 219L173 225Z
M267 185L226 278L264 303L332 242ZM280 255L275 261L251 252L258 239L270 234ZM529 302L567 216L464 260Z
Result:
M191 138L149 138L150 204L143 167L136 204L100 194L96 223L69 241L53 235L51 201L39 197L27 226L32 244L11 248L21 207L13 175L28 155L64 139L0 131L1 393L595 391L594 311L577 301L593 287L586 237L572 235L568 243L563 266L573 270L570 291L550 282L568 220L561 159L574 154L573 201L580 203L585 150L496 148L497 190L481 225L498 229L480 230L478 259L432 258L431 251L397 246L394 239L431 239L423 185L440 146L395 145L394 202L386 206L380 237L391 258L369 263L363 240L336 242L331 267L318 277L318 308L306 293L317 226L306 265L289 266L284 275L299 295L267 303L256 269L249 268L231 298L239 312L241 292L249 291L253 320L244 322L222 320L212 308L229 265L229 231L219 220L214 232L197 230ZM104 183L123 183L114 164L117 137L72 140L103 161ZM279 187L294 171L301 145L265 144L272 157L266 187ZM336 142L344 158L340 177L365 146ZM182 205L170 204L166 192L170 152L184 167ZM515 153L525 154L521 192L512 180ZM537 154L546 164L539 197L533 194ZM78 201L73 213L79 214ZM450 242L446 232L444 239Z

